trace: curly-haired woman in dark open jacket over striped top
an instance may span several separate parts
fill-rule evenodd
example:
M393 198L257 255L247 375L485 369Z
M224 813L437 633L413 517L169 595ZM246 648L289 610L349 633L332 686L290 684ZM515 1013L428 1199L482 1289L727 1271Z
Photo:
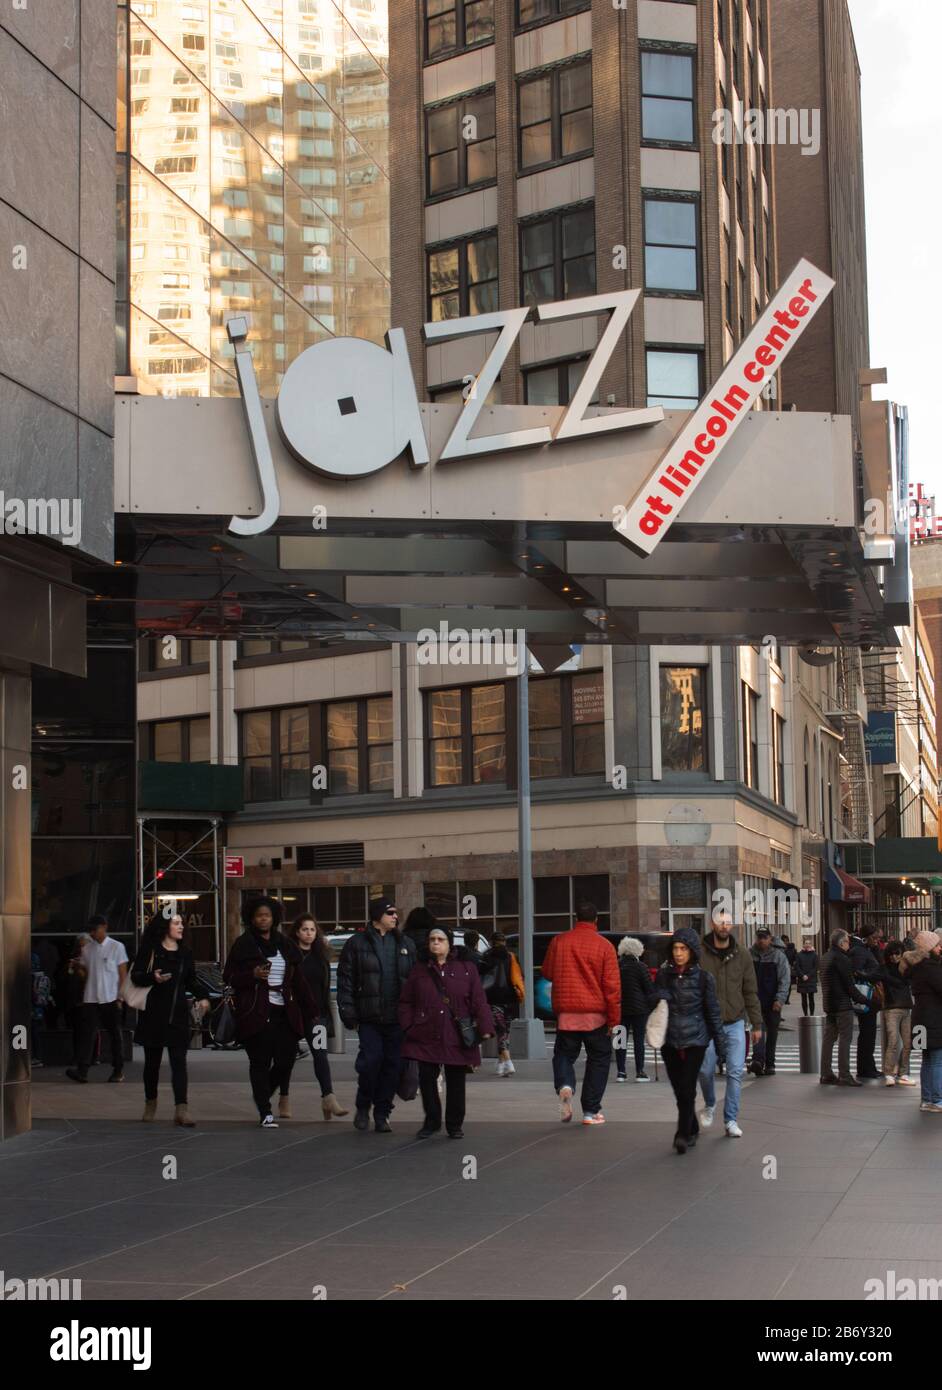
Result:
M271 1097L288 1081L314 1016L301 954L282 935L281 903L256 898L242 909L245 931L232 942L222 979L235 991L236 1038L249 1056L251 1097L261 1129L278 1129Z

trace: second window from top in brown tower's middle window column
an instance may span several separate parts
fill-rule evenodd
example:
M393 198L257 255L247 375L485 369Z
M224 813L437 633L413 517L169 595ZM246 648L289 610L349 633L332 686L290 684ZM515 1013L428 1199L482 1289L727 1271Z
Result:
M592 61L571 63L517 89L518 160L528 170L592 149Z

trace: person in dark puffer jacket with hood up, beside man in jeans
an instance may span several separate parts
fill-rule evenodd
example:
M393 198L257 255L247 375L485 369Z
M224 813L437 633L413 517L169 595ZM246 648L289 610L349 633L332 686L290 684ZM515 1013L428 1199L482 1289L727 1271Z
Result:
M696 1144L696 1080L710 1042L727 1061L727 1034L713 976L700 966L700 938L692 927L678 927L670 959L657 972L654 995L667 1001L667 1036L661 1056L677 1101L674 1148L686 1154Z

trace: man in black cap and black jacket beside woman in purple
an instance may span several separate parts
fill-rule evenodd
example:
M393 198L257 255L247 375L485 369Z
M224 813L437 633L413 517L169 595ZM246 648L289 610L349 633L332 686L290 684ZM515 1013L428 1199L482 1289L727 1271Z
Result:
M372 898L370 924L354 931L340 952L336 1005L347 1029L357 1029L357 1099L354 1127L389 1134L389 1115L399 1084L403 1030L399 995L415 965L415 945L399 930L389 898Z

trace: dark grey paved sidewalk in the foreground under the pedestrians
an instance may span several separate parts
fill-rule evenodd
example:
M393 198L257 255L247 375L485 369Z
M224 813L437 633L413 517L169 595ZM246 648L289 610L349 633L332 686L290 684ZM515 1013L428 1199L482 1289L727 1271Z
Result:
M243 1052L192 1052L195 1130L140 1123L140 1052L122 1086L33 1073L33 1133L0 1150L0 1268L81 1277L85 1298L828 1300L942 1277L942 1116L918 1090L747 1079L741 1123L671 1150L660 1083L615 1086L607 1125L559 1123L547 1062L468 1079L460 1143L329 1125L310 1061L296 1119L263 1133ZM332 1058L345 1104L353 1055ZM718 1081L721 1102L724 1083ZM167 1179L167 1159L176 1177ZM763 1176L775 1170L774 1177ZM471 1176L477 1172L477 1177Z

